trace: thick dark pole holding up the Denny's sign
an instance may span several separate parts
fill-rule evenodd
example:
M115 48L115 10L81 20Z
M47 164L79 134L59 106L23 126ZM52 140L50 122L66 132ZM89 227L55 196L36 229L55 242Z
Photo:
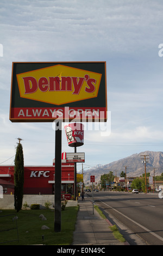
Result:
M54 231L61 231L61 121L55 121Z

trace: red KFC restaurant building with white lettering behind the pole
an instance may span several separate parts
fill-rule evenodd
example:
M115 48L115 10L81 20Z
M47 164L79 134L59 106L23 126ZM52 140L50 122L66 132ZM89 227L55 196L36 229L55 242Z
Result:
M66 163L62 153L61 193L70 200L73 194L74 164ZM0 166L0 185L3 193L14 194L14 166ZM24 166L24 194L54 194L55 160L53 166ZM66 196L67 195L67 196Z

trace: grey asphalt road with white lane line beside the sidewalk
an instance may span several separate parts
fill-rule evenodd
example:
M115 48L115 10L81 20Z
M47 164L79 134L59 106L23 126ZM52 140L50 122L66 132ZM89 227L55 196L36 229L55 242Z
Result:
M92 192L86 194L92 196ZM93 192L93 198L105 216L127 227L130 235L136 234L147 245L163 245L163 199L158 193L100 191Z

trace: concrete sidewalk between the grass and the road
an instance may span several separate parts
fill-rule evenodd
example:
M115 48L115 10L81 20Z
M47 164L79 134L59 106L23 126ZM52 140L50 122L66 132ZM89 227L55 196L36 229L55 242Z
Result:
M78 199L79 212L72 245L128 245L115 239L109 228L111 223L93 210L91 198ZM93 214L94 212L94 214Z

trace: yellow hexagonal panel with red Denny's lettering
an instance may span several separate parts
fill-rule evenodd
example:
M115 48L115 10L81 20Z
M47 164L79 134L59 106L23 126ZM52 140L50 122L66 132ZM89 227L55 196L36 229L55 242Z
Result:
M21 97L62 105L97 97L102 74L55 65L16 76Z

